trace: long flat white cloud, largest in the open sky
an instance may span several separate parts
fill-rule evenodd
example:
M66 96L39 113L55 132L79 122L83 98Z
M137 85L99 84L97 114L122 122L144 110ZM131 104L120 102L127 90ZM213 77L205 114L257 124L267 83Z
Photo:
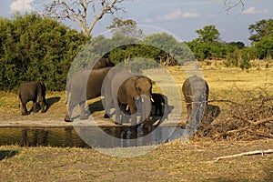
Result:
M165 22L165 21L174 21L182 18L195 18L198 17L199 14L194 12L182 12L181 9L177 8L173 12L170 12L166 15L157 15L154 18L147 18L145 22Z

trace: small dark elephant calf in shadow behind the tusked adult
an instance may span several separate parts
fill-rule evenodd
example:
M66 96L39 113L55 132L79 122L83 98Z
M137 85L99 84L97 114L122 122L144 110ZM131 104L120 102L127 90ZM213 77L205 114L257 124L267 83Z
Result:
M157 111L159 110L159 116L163 116L162 106L167 106L167 111L169 111L167 104L167 96L164 96L159 93L152 93L153 102L152 104L155 106L155 116L157 116Z

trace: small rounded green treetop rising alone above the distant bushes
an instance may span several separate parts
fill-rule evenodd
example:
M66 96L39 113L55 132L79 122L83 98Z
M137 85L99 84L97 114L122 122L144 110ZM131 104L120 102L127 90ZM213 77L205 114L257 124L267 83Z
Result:
M198 35L197 41L207 44L216 42L220 35L215 25L206 25L203 29L198 29L196 33Z

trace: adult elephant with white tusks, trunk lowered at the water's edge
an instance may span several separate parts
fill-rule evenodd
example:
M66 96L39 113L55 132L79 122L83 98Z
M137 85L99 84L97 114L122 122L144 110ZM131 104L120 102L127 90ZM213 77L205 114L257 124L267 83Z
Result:
M134 75L125 68L112 69L104 83L106 97L106 115L110 116L112 102L116 109L116 124L122 124L126 115L126 107L131 113L131 125L136 126L136 102L140 103L143 127L150 128L150 110L152 98L152 81L147 76ZM120 118L121 117L121 118Z

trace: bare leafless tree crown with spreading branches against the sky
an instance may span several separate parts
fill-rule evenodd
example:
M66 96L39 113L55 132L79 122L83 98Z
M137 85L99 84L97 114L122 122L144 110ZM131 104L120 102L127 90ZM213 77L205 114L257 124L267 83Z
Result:
M45 15L71 20L90 38L94 26L104 15L124 11L118 7L123 1L125 0L51 0L50 4L45 5Z

